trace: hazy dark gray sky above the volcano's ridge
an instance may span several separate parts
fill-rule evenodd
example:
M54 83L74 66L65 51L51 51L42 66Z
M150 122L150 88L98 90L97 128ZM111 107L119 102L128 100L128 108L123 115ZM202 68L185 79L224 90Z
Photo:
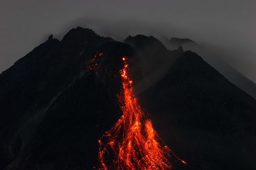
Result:
M138 33L190 38L256 82L255 0L1 0L0 72L45 41L88 27L123 40Z

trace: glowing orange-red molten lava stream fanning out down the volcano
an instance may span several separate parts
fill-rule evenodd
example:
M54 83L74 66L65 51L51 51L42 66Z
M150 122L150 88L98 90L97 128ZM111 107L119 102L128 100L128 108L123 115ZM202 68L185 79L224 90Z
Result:
M171 169L173 152L162 145L152 122L144 117L133 93L133 82L128 76L127 58L124 56L122 59L124 67L120 74L123 91L118 98L123 115L99 140L100 169Z

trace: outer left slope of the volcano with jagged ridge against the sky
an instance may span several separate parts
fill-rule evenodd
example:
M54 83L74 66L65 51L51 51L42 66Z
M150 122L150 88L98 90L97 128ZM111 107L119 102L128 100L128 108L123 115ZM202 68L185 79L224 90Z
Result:
M107 41L92 30L76 28L62 41L52 39L34 48L0 75L0 157L11 160L29 142L28 126L38 124L45 109L85 69ZM36 123L35 123L36 122ZM29 128L31 129L31 128ZM19 141L19 142L18 142ZM5 161L1 161L0 168Z

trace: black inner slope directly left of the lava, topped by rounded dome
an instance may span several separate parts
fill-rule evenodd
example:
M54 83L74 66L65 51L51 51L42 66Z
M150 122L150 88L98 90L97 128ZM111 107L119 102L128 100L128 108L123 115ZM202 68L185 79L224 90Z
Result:
M7 169L92 169L98 165L98 140L122 115L117 94L122 56L133 48L103 44L101 67L85 72L45 113L36 135ZM97 71L97 74L96 72Z

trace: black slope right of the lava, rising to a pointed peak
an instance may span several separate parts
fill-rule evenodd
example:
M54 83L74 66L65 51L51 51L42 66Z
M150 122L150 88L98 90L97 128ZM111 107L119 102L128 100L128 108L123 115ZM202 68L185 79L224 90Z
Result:
M188 169L256 168L255 100L195 53L185 52L139 99Z

